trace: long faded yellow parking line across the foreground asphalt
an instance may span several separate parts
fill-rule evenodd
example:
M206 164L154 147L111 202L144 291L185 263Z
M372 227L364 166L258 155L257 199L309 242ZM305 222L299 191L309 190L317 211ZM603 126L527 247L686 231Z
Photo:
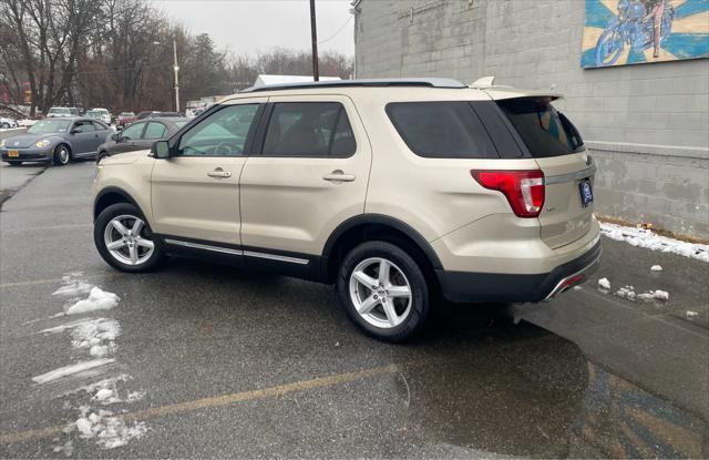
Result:
M279 397L286 393L296 391L306 391L315 388L333 387L337 385L347 384L354 380L362 380L367 378L392 375L400 371L401 366L412 366L422 364L423 361L409 361L399 365L389 365L384 367L376 367L370 369L362 369L352 372L336 374L332 376L318 377L311 380L299 380L290 384L278 385L275 387L264 388L259 390L249 390L235 392L230 395L214 396L209 398L195 399L192 401L177 402L174 405L157 406L135 412L126 412L119 415L117 417L124 421L144 421L163 416L169 416L174 413L192 412L199 409L215 408L222 406L228 406L236 402L249 401L254 399L266 399ZM25 442L38 439L51 438L63 432L65 426L53 426L45 428L38 428L27 431L0 433L0 444L10 444L17 442Z

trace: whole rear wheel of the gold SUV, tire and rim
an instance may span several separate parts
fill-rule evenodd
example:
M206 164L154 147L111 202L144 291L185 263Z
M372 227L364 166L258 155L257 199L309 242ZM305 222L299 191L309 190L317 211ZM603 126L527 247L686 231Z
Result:
M423 328L429 286L415 260L387 242L368 242L345 257L337 289L349 317L368 335L400 343Z

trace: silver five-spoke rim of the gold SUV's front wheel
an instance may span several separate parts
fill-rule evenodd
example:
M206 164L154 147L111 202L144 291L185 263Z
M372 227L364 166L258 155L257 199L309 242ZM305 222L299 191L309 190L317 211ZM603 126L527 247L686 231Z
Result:
M146 235L147 232L142 218L123 214L106 224L103 241L113 258L135 266L147 262L155 251L155 243Z

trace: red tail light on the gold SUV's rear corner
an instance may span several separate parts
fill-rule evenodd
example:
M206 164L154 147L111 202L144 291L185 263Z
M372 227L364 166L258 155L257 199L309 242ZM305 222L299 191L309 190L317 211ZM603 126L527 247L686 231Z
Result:
M537 217L544 206L544 173L532 171L470 172L485 188L502 192L518 217Z

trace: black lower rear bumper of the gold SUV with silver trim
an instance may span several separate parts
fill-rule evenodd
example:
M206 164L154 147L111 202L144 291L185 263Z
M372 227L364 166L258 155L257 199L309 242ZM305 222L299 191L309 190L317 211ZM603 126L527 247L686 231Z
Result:
M546 274L512 275L436 270L436 276L443 296L453 303L542 301L588 279L598 268L602 253L599 239L582 256Z

